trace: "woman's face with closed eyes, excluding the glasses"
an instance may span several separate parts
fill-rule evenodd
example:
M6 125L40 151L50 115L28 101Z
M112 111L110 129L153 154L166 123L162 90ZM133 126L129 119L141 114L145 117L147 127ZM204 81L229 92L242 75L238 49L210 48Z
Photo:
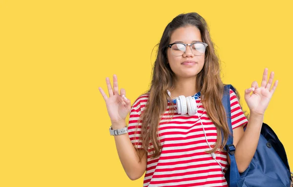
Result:
M190 44L193 42L202 42L202 38L197 27L180 27L171 34L169 44L174 42ZM205 54L195 56L191 52L190 46L187 46L186 52L182 56L174 56L171 48L168 47L167 59L177 78L190 78L195 77L202 70L205 62ZM186 61L190 62L188 63Z

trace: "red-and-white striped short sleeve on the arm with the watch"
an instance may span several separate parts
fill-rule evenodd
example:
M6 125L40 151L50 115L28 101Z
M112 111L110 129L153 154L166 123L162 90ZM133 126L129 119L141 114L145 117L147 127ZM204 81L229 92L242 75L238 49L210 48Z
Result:
M128 122L128 136L135 148L142 148L141 127L142 121L140 116L145 108L148 95L140 96L131 106Z

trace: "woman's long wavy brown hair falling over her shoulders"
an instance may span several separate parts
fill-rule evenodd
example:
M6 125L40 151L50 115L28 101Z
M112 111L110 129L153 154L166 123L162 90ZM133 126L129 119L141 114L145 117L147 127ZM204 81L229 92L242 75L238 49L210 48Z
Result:
M169 44L170 36L175 29L187 26L196 26L200 30L202 41L208 43L205 52L204 66L197 74L196 85L194 85L196 90L201 90L202 104L217 129L216 144L213 146L212 150L207 152L215 152L218 148L224 147L230 133L226 112L222 105L224 84L220 77L219 59L209 36L208 25L205 19L197 13L180 14L167 24L161 41L158 44L159 48L153 67L151 86L148 90L149 96L145 110L140 116L142 121L140 137L142 146L147 152L152 152L152 158L156 158L161 154L161 145L158 140L157 132L159 130L158 127L161 115L163 115L164 111L167 109L167 101L172 100L167 94L167 89L172 89L175 81L175 75L167 63L166 46ZM236 92L236 95L238 99L240 99L238 92ZM172 104L171 108L172 109L169 111L173 117L174 104Z

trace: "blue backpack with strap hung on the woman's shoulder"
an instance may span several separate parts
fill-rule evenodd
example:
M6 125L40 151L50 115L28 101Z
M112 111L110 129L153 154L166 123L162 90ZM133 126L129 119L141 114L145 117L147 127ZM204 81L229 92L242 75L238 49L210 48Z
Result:
M231 134L230 89L232 85L224 86L222 103L227 113L227 121ZM244 129L245 130L245 129ZM263 123L255 154L248 168L239 173L235 161L233 136L229 136L224 148L230 155L230 167L225 174L229 187L291 187L292 176L284 146L279 141L272 128Z

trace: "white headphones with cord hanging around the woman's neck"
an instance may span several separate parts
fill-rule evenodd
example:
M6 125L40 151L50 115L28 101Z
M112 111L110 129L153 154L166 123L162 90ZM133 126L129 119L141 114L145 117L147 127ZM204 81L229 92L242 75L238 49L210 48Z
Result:
M167 93L171 97L171 93L170 93L169 90L167 90ZM200 123L201 123L201 125L203 127L206 142L209 145L204 125L203 125L203 123L202 123L202 121L201 121L201 119L199 117L198 112L197 112L198 106L196 104L195 97L199 98L199 96L196 96L196 94L194 94L193 97L191 97L191 96L185 97L184 95L176 97L175 99L173 99L173 102L175 104L177 104L177 109L175 109L175 110L177 111L178 114L182 114L182 115L185 115L185 114L188 113L189 116L193 116L195 113L197 114L198 119L199 119L199 121L200 121ZM209 145L209 149L211 150L210 145ZM211 154L212 158L216 161L216 163L218 163L218 165L221 167L222 173L225 175L222 166L220 165L220 163L216 159L215 153L210 153L210 154Z

